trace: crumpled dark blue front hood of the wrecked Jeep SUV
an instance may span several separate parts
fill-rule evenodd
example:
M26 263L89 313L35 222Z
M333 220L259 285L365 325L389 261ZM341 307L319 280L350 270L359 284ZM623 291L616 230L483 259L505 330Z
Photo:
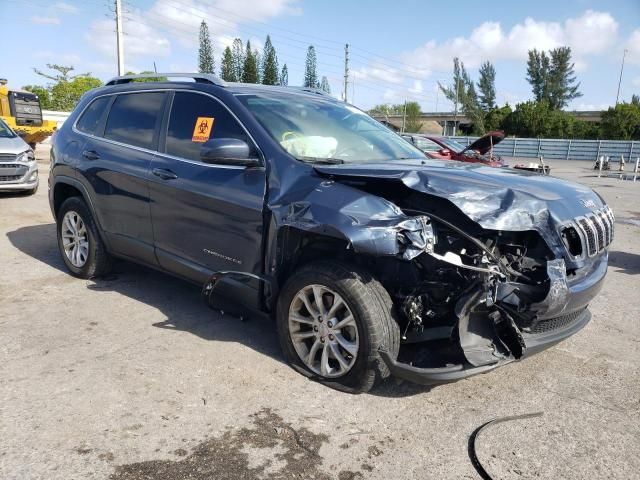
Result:
M547 230L603 207L590 188L559 178L509 168L446 161L316 166L335 179L380 179L444 198L491 230Z

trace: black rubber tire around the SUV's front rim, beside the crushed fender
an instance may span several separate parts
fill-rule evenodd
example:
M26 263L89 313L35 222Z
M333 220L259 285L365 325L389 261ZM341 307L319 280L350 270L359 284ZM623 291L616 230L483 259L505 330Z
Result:
M309 285L323 285L339 294L348 305L358 329L355 363L343 376L325 377L313 372L298 355L289 332L289 308L296 294ZM349 393L369 391L390 376L379 350L398 356L400 329L386 289L365 270L345 263L323 261L303 266L280 292L276 314L278 337L291 366L303 375Z

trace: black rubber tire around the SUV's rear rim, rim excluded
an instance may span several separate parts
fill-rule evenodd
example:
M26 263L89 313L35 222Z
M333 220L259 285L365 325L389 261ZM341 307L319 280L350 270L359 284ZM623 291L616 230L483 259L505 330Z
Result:
M89 244L88 255L84 265L81 267L73 265L69 258L67 258L62 241L63 219L70 211L75 212L82 219L87 231L87 241ZM56 232L58 236L58 249L60 250L60 255L62 256L62 260L71 275L78 278L88 279L109 273L112 263L111 256L107 252L104 242L100 237L100 233L98 232L96 222L82 198L70 197L62 203L56 218Z

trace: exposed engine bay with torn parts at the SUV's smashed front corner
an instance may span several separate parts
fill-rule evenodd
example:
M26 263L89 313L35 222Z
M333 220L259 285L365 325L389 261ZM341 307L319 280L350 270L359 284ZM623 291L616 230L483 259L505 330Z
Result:
M411 219L399 223L397 255L367 258L396 305L399 363L490 368L523 357L527 338L588 315L586 303L569 301L571 277L588 268L567 265L539 230L483 228L448 200L397 183L341 183L389 200Z

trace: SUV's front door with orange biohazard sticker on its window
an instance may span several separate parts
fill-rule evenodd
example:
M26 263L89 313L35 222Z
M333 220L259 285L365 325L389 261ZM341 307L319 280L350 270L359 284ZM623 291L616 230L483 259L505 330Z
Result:
M243 126L212 96L179 91L165 136L149 183L160 265L198 283L216 271L262 272L265 169L200 161L208 138L243 140L259 156Z

